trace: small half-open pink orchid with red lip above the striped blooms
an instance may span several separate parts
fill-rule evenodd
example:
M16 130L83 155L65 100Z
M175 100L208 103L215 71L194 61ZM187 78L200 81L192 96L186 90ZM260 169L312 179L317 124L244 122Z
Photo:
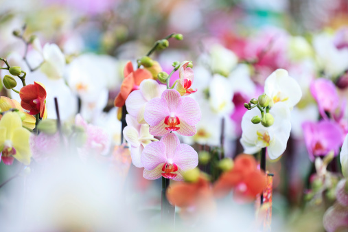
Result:
M179 80L176 85L176 90L182 96L190 95L191 93L196 93L197 89L190 89L192 82L194 82L194 71L187 67L189 62L185 62L179 69Z

